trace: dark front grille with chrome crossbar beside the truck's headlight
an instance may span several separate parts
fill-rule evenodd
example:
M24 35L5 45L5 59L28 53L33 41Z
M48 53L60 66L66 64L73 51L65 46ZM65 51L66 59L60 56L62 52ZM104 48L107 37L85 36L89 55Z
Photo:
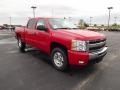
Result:
M100 51L105 45L106 45L106 39L91 40L88 42L88 50L89 52Z

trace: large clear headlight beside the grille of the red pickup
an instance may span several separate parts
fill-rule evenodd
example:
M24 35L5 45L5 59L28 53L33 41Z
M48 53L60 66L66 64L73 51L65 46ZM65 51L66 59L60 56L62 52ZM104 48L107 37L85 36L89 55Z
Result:
M81 40L72 40L71 50L86 51L86 42Z

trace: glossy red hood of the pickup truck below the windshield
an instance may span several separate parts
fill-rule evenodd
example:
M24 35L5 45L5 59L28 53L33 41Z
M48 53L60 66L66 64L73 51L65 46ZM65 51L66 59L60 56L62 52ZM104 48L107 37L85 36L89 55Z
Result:
M106 38L103 34L88 31L88 30L58 30L59 34L64 35L64 37L71 37L74 39L81 40L96 40L96 39L104 39Z

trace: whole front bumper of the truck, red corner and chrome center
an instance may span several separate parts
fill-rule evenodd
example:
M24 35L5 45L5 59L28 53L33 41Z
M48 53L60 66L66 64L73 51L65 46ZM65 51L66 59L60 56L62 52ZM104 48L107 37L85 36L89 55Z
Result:
M75 52L68 50L68 62L70 65L87 65L92 60L103 58L107 53L107 47L97 52Z

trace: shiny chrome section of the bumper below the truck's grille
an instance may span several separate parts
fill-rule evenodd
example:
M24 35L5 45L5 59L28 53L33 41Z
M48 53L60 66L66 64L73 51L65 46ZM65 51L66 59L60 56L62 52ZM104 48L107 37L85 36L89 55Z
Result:
M101 51L89 53L89 60L102 58L107 54L107 47L104 47Z

